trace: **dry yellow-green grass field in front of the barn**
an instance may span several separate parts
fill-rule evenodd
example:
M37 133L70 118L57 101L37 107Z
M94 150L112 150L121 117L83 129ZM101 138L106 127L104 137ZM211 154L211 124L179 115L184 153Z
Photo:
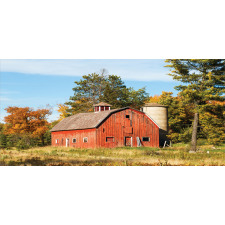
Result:
M225 145L200 146L189 153L188 145L170 148L74 149L40 147L0 150L1 166L224 166Z

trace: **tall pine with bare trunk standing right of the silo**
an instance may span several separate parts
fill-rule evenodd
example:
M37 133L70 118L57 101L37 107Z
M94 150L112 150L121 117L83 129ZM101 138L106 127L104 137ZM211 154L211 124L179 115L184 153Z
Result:
M166 62L166 67L173 68L169 75L182 82L175 89L186 104L194 107L191 150L196 151L199 114L207 110L208 101L224 101L225 60L168 59Z

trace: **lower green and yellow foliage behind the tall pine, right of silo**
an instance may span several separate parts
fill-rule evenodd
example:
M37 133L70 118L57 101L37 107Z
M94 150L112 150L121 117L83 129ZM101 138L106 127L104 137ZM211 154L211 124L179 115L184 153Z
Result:
M173 96L172 92L162 92L159 96L150 97L150 102L168 106L168 138L172 143L188 143L192 136L194 104L187 104L184 96ZM208 144L220 145L225 141L225 103L209 101L202 106L199 117L198 138ZM199 143L199 142L198 142Z

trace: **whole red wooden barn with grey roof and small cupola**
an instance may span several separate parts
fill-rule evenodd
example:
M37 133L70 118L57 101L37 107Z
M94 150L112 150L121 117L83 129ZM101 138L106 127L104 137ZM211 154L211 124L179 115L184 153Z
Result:
M52 146L75 148L159 147L159 126L130 107L110 110L99 103L95 112L78 113L54 126Z

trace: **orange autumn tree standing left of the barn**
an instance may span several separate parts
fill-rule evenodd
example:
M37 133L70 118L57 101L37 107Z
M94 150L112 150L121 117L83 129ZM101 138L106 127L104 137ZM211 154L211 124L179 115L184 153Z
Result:
M47 116L50 109L34 110L30 107L8 107L5 109L9 114L4 118L6 134L29 134L37 137L44 145L44 134L48 130Z

